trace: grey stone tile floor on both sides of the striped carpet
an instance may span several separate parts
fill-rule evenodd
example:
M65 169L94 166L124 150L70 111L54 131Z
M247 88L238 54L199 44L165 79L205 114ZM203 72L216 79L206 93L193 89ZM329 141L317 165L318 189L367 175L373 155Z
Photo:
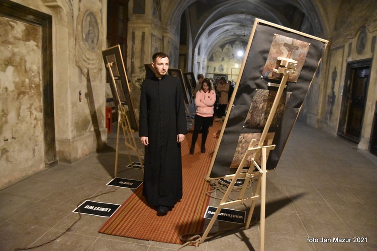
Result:
M106 185L114 175L115 142L113 132L105 151L74 164L59 163L0 191L0 250L35 246L56 238L78 219L72 211L86 198L109 192L91 200L122 204L133 191ZM125 168L129 158L124 144L119 163L118 177L142 179L140 170ZM267 174L265 250L377 250L376 192L377 157L298 122L276 170ZM210 205L218 203L210 200ZM258 210L259 206L256 215ZM153 251L181 247L98 233L106 221L82 215L70 231L35 250ZM197 248L185 246L181 250L259 250L259 233L258 222L247 230L233 230ZM351 243L334 242L336 237L350 238ZM354 237L364 238L364 243L353 242ZM329 242L321 243L322 238Z

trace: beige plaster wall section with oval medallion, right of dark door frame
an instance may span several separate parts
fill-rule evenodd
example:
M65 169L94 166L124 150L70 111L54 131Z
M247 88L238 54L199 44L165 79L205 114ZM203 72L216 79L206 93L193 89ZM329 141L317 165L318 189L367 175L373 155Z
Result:
M57 138L57 151L59 159L66 162L89 155L107 139L106 71L101 54L106 45L106 6L107 1L102 0L73 1L73 13L65 7L66 22L60 22L67 29L61 34L56 30L56 48L67 60L67 69L61 71L56 61L56 75L61 82L55 85L55 103L60 106L55 121L62 132ZM67 41L60 43L60 38ZM59 95L60 86L66 95Z

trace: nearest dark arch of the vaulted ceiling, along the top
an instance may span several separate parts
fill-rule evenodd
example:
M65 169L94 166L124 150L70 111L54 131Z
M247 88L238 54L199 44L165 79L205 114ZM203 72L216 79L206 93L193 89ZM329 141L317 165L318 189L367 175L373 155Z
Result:
M163 23L170 31L179 27L177 24L182 13L191 10L196 12L196 19L205 19L207 22L227 15L246 14L293 29L299 28L293 26L297 26L305 16L314 28L312 35L323 32L317 0L179 0L175 4L165 2L162 9L165 17Z

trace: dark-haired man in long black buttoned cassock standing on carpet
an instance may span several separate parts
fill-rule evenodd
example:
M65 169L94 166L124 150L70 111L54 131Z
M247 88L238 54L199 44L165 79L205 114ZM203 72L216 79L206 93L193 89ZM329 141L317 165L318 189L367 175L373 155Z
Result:
M183 91L178 78L166 75L169 58L152 56L155 75L141 86L139 136L145 146L143 196L166 214L182 198L180 143L187 133Z

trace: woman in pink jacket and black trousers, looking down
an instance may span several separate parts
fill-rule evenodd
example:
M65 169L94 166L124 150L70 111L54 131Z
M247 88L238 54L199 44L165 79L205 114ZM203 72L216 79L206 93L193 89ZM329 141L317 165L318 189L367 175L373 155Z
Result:
M197 113L195 114L195 125L193 141L191 143L190 154L194 154L195 143L198 135L202 132L202 149L201 152L206 152L206 140L208 129L213 121L213 105L216 101L216 93L211 89L211 81L208 78L203 79L202 88L197 92L195 97L195 104L197 105Z

